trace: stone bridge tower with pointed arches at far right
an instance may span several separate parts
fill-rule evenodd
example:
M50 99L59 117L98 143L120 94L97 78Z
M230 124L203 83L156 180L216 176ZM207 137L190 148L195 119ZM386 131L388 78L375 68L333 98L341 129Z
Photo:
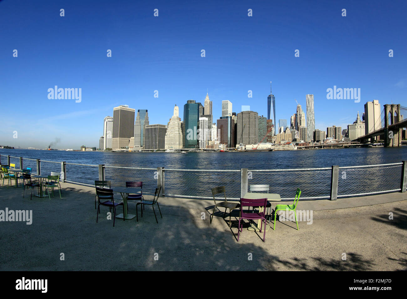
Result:
M401 121L400 104L386 104L384 106L384 140L385 146L394 147L401 146L403 128L392 127L390 125ZM390 114L390 123L389 123ZM392 138L391 138L392 137Z

